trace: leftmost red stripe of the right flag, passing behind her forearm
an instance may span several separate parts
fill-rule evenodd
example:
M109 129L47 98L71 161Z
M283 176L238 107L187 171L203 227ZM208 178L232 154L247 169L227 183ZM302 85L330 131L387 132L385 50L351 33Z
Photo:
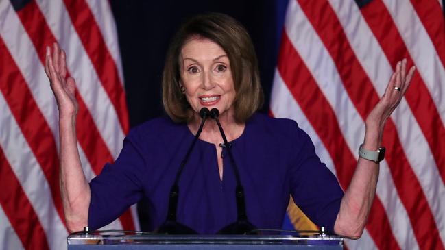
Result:
M311 73L309 73L304 62L302 62L300 56L291 45L286 32L283 32L278 59L278 71L311 125L320 136L320 139L324 142L324 146L329 151L330 157L335 164L339 182L346 189L352 178L357 161L350 153L344 138L339 136L341 135L341 130L332 108L330 108L328 101L324 98ZM295 72L299 72L298 77L294 74ZM302 92L305 95L300 95ZM320 115L320 112L323 115ZM370 232L374 240L376 240L376 234L386 233L387 238L385 238L385 241L375 241L379 248L389 245L392 249L400 249L392 234L389 220L383 210L380 199L376 197L374 203L376 204L372 207L372 214L380 218L381 221L380 225L368 224L368 232Z

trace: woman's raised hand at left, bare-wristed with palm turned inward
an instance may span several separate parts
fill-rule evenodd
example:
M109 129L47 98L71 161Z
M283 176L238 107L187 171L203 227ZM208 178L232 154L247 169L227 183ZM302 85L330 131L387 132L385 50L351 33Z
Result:
M79 110L75 99L75 80L73 77L67 77L67 55L57 43L53 45L53 53L47 46L45 73L47 73L51 90L56 97L59 117L75 116Z

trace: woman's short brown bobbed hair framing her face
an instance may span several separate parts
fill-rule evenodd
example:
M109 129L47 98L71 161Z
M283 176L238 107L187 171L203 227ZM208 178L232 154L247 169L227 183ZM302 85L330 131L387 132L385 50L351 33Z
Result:
M193 116L193 110L180 90L179 55L184 44L196 36L216 42L227 53L236 92L234 118L241 123L247 121L264 101L256 53L243 25L220 13L194 16L173 36L163 72L165 112L176 122L189 121Z

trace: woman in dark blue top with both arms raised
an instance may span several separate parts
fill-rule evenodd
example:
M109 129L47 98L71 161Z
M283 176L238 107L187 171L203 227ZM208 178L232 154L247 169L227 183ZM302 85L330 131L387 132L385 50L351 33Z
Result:
M200 109L206 107L220 112L250 222L258 228L279 228L290 194L317 225L359 238L375 195L382 156L376 150L383 128L414 73L414 68L406 72L406 60L398 62L385 94L365 121L364 154L343 192L295 122L255 114L263 93L245 29L224 14L196 16L182 25L167 53L163 103L170 118L132 129L115 164L107 164L88 184L76 144L75 81L66 79L65 60L58 45L52 53L47 49L45 71L60 114L60 180L70 231L106 225L144 196L149 225L154 229L163 223L173 178L200 125ZM221 142L215 121L207 121L179 182L178 221L200 233L214 234L236 220L234 173Z

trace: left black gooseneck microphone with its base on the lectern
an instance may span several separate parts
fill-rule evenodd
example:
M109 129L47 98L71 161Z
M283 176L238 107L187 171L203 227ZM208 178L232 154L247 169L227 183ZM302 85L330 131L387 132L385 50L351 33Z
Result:
M186 225L183 225L181 223L178 223L176 221L176 210L178 210L178 197L179 197L179 178L181 176L182 170L184 169L185 164L187 163L187 160L189 159L189 155L195 146L195 143L197 141L197 138L200 137L200 134L202 132L202 127L204 127L204 123L206 122L206 118L208 118L210 112L208 111L208 108L202 108L200 110L200 116L202 118L201 124L199 129L197 129L195 138L193 138L193 142L191 142L191 145L189 149L187 150L187 153L184 156L184 159L182 160L180 167L178 169L178 173L176 173L175 182L173 182L173 185L171 186L170 195L169 195L169 209L167 211L167 218L165 219L165 222L161 224L157 229L154 230L155 233L158 234L197 234L197 232L190 227L187 227Z

